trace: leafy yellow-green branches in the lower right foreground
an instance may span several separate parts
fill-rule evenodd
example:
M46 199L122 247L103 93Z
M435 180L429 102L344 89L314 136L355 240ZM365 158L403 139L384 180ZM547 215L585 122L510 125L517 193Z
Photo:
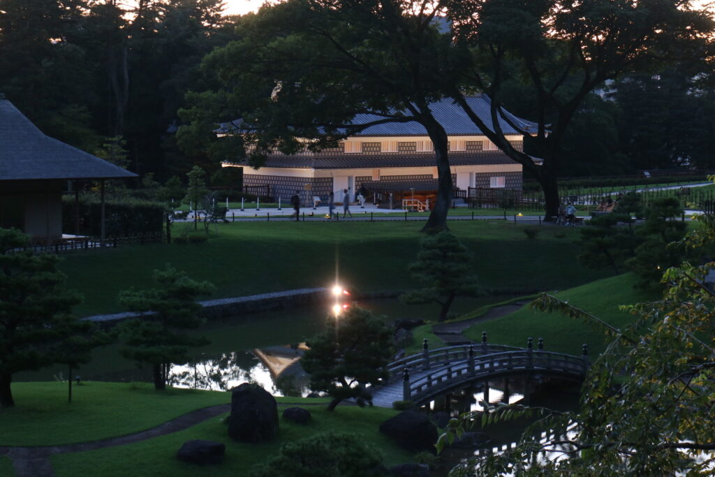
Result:
M714 217L701 220L705 227L680 245L694 250L715 243ZM533 308L595 323L611 339L583 383L581 408L556 413L497 405L483 417L464 415L443 443L474 419L538 419L516 447L470 459L454 475L712 475L715 292L704 279L713 267L684 262L666 270L662 299L626 307L636 319L621 329L550 295L538 298Z

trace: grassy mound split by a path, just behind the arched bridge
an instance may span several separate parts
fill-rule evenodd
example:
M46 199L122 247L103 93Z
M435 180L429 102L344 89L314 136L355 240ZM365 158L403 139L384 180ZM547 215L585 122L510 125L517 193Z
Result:
M617 277L597 280L587 285L557 292L556 296L573 306L601 318L606 323L621 328L631 323L633 317L618 310L619 305L633 305L656 296L633 288L635 277L628 273ZM481 341L482 331L488 333L491 343L526 346L528 337L544 339L544 349L561 353L581 354L581 345L586 343L592 356L603 351L606 345L601 328L583 320L572 320L560 313L537 313L528 305L511 315L485 323L476 323L465 331L465 336Z

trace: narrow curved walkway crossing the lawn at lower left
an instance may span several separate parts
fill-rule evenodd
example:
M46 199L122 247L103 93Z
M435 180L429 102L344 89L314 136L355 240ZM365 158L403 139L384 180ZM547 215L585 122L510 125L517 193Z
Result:
M279 405L321 405L325 403L278 403ZM75 444L62 444L59 446L22 447L0 446L0 456L9 457L15 469L16 477L53 477L50 457L54 454L69 452L96 451L107 447L126 446L136 442L146 441L160 436L167 436L184 429L196 426L199 423L215 418L217 415L231 410L230 404L212 405L208 408L194 410L184 415L179 415L171 421L159 424L146 431L139 431L124 436L110 437L101 441L82 442Z

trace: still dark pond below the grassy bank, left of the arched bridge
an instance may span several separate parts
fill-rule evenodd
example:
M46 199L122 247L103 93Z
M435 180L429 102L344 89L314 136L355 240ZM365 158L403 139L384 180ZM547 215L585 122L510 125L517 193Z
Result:
M455 300L452 313L468 313L508 296ZM358 303L384 315L398 318L434 318L437 305L403 305L395 299ZM211 343L192 350L192 362L172 365L172 385L227 390L240 383L256 382L275 395L307 395L307 375L298 362L305 340L324 328L329 305L290 308L267 313L251 313L209 320L199 332ZM18 373L16 381L63 380L67 368L54 365L42 370ZM73 371L82 380L151 382L149 368L137 368L119 353L119 345L94 350L92 361Z

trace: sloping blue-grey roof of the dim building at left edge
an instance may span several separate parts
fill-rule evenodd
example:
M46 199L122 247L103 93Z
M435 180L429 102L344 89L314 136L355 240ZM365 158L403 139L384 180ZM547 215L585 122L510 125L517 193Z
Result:
M45 136L11 102L0 99L0 181L121 177L137 174Z

